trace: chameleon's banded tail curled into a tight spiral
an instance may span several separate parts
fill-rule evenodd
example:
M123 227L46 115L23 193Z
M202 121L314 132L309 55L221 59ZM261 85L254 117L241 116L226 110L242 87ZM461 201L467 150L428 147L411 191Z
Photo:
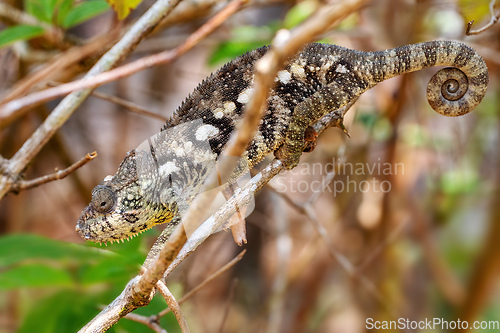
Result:
M488 68L477 52L454 41L431 41L367 54L373 83L432 66L438 71L427 85L427 100L439 114L456 117L472 111L488 86Z

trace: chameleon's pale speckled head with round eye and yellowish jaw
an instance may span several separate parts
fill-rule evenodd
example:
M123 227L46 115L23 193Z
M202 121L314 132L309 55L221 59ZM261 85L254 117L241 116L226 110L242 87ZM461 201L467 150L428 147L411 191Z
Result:
M128 239L161 223L169 222L167 206L145 195L137 176L136 154L130 151L114 176L108 176L92 191L76 231L86 240L99 243Z

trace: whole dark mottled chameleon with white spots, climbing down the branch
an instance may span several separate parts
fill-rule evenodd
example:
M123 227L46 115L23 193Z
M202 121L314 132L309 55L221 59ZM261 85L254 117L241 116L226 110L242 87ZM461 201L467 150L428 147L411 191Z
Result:
M86 240L135 236L157 224L175 226L228 142L252 94L255 61L262 47L229 62L205 79L143 149L127 153L114 176L92 192L76 230ZM309 44L276 78L260 127L243 156L248 167L275 152L297 165L304 132L328 112L389 78L432 66L453 66L429 81L432 108L445 116L468 113L488 84L483 59L459 42L431 41L378 52ZM159 237L160 245L173 228Z

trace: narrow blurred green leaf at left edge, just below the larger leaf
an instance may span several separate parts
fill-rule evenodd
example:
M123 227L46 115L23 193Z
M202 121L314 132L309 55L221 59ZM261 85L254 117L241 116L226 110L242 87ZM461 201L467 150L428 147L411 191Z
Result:
M0 272L0 290L71 284L71 276L64 269L44 264L21 265Z

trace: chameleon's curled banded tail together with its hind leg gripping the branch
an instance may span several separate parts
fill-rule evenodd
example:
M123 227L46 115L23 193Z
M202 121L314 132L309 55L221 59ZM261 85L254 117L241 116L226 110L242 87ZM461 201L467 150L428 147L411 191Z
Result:
M378 52L357 52L335 45L327 48L333 55L328 64L332 70L325 76L327 84L296 105L284 144L275 152L288 169L299 162L309 125L384 80L428 67L453 66L437 72L427 86L431 107L451 117L470 112L486 93L486 64L463 43L431 41Z

